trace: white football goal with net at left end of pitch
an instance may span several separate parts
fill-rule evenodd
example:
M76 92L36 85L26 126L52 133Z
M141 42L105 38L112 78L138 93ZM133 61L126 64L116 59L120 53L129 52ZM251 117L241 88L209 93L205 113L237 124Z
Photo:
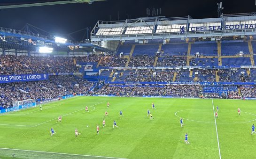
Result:
M23 109L23 108L36 107L36 99L13 101L12 104L13 104L14 111L20 111L20 109Z

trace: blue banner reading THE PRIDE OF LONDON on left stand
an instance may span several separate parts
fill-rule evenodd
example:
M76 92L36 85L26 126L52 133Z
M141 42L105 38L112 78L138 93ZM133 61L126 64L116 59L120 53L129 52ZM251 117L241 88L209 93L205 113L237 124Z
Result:
M0 83L11 83L11 82L28 82L35 80L46 80L48 74L19 74L19 75L0 75Z

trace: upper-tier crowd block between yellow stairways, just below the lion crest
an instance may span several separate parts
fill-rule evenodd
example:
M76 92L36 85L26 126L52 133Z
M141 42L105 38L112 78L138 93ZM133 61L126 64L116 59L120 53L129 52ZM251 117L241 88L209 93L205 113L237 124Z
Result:
M156 66L186 66L186 57L166 56L159 57Z

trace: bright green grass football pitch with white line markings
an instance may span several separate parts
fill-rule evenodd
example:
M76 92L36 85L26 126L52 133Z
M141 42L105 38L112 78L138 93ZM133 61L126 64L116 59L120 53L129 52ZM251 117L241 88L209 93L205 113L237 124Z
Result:
M104 117L105 111L109 116ZM59 116L62 122L56 123ZM252 124L256 101L73 97L44 104L42 111L37 106L0 114L0 159L13 154L16 159L255 159ZM75 129L81 133L77 138ZM190 144L184 142L186 133Z

